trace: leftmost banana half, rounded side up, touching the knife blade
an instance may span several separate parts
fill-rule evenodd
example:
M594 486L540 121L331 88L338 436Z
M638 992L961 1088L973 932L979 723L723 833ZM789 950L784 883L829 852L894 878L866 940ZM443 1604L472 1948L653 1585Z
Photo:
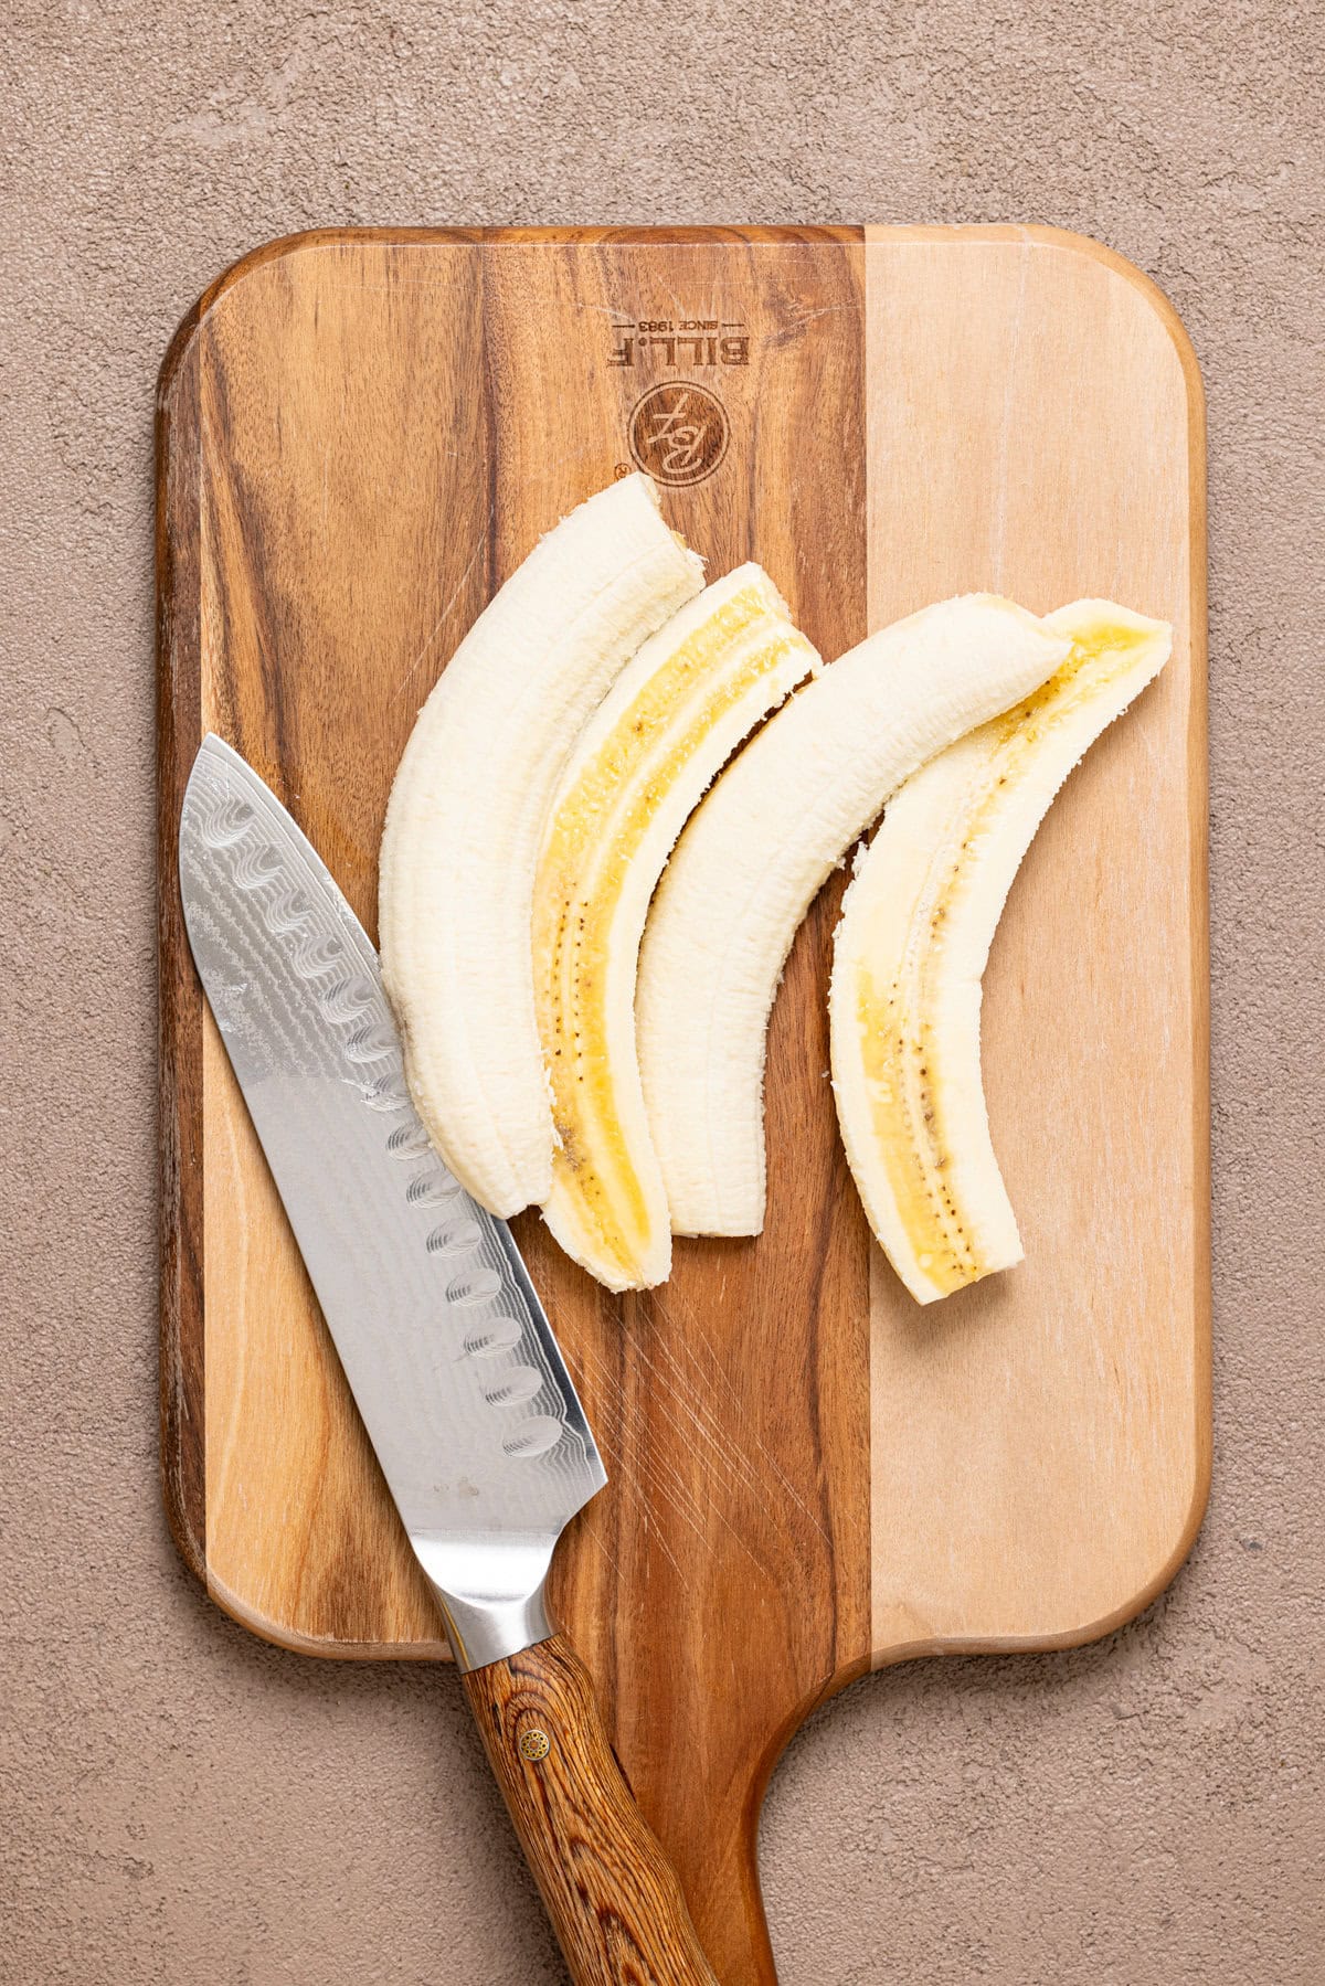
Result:
M528 959L548 802L622 663L701 584L703 562L660 516L648 477L590 496L469 630L395 775L383 981L419 1116L493 1213L518 1213L552 1184Z

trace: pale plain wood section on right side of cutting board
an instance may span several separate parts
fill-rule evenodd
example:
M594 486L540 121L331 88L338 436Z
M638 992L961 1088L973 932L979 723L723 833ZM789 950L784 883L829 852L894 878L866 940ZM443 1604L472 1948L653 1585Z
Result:
M1027 1259L924 1311L872 1261L882 1662L1103 1632L1204 1505L1204 514L1190 350L1118 258L878 232L866 322L872 628L973 588L1174 624L1039 830L985 975Z

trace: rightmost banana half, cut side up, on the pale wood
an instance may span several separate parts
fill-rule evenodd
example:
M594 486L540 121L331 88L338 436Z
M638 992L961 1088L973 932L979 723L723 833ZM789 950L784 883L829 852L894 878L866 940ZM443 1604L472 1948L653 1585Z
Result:
M842 1142L870 1227L918 1303L1021 1261L979 1076L979 981L1049 802L1172 645L1166 622L1106 600L1079 600L1045 628L1073 643L1063 667L902 786L836 929Z

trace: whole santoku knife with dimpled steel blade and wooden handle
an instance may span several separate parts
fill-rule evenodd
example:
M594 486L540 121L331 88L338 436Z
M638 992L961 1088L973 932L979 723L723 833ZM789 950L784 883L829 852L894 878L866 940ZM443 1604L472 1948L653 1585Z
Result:
M675 1871L548 1619L606 1470L505 1221L433 1152L377 955L250 765L203 739L189 943L230 1066L576 1986L717 1986Z

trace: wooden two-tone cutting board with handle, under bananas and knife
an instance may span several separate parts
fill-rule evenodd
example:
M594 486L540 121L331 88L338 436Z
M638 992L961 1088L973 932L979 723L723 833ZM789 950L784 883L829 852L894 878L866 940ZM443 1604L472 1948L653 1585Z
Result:
M1023 1267L922 1311L870 1243L826 1082L840 882L773 1019L765 1235L679 1243L663 1289L614 1299L518 1223L612 1476L556 1609L719 1976L767 1982L755 1825L807 1712L904 1656L1103 1634L1200 1523L1192 350L1134 268L1043 228L310 234L181 328L159 441L167 1505L213 1597L316 1654L445 1648L187 955L175 830L203 731L373 931L417 707L538 534L632 461L711 574L759 558L826 657L969 588L1174 622L987 971Z

